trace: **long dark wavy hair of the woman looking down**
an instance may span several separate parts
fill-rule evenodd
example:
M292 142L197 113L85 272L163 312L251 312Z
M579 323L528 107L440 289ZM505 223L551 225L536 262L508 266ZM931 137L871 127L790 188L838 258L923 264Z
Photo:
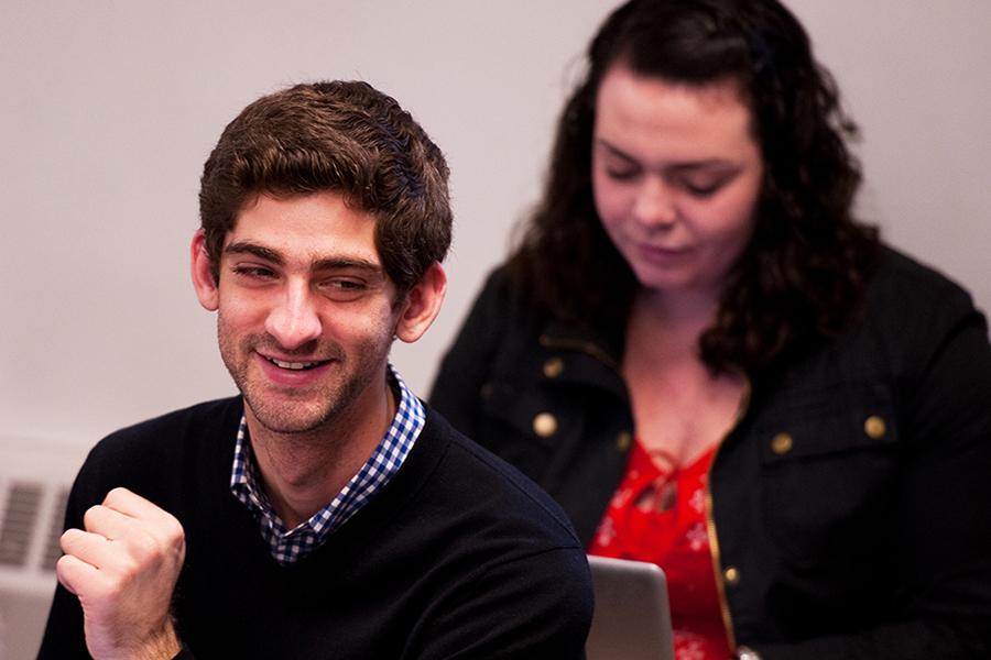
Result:
M852 217L858 134L808 35L776 0L631 0L602 24L588 70L560 117L543 199L521 228L509 270L552 315L622 332L635 277L592 200L596 95L617 64L672 82L734 81L764 161L753 238L700 338L715 372L769 367L835 332L860 295L876 231Z

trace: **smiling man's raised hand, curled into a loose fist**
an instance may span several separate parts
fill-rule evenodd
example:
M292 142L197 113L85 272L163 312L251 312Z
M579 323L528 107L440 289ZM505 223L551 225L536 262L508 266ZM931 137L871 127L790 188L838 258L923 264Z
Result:
M58 581L83 605L96 660L173 658L181 650L172 592L186 554L183 527L127 488L115 488L62 535Z

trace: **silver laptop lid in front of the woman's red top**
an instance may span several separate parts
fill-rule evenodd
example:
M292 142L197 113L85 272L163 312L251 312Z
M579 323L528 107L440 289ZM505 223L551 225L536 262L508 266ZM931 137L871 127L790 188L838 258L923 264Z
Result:
M667 581L656 564L588 558L596 610L587 660L674 660Z

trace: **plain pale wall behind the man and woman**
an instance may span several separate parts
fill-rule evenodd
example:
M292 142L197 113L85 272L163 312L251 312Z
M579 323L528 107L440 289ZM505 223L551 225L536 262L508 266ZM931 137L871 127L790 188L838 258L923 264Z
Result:
M863 128L867 216L991 308L991 2L791 0ZM286 84L364 78L448 154L456 239L422 394L533 202L596 0L0 0L0 438L83 452L233 387L186 250L222 127Z

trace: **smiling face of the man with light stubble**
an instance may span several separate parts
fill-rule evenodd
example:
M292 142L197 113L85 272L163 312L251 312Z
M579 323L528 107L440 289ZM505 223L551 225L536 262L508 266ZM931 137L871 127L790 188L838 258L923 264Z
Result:
M393 305L374 227L373 216L329 191L261 195L238 216L219 283L198 293L219 312L220 354L249 420L283 433L318 431L381 400L405 304Z

